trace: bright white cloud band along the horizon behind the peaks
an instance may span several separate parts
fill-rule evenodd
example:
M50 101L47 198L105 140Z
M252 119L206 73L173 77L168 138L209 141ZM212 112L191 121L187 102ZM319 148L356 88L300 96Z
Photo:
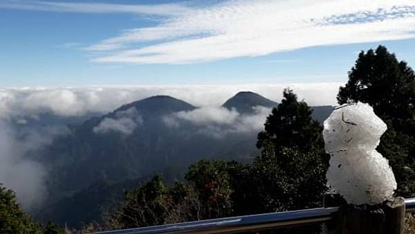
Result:
M49 89L0 89L0 119L49 112L57 116L105 114L129 102L169 95L197 107L220 106L239 91L253 91L279 102L282 90L294 89L308 105L335 105L340 82L299 84L223 84ZM28 119L26 119L28 120Z

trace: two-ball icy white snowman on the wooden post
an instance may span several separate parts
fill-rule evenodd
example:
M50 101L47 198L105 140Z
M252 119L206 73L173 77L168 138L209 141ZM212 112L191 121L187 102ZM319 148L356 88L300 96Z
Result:
M380 204L396 190L394 172L376 151L386 129L362 102L337 107L324 121L325 150L331 155L327 185L349 204Z

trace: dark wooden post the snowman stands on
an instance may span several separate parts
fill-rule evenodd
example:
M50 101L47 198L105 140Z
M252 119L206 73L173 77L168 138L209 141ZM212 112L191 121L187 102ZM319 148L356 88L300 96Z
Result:
M348 205L338 195L326 195L324 207L339 206L326 224L328 234L403 234L405 200L396 197L376 206Z

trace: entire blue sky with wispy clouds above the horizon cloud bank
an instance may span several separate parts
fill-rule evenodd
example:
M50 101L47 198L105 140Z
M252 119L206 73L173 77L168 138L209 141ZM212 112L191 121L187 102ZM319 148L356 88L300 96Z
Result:
M414 32L414 1L3 0L0 87L344 82Z

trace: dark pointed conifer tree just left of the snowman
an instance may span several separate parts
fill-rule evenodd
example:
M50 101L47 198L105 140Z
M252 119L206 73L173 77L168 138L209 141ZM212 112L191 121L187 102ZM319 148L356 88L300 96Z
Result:
M306 102L284 89L282 102L266 119L257 141L261 156L250 166L250 188L245 189L255 201L255 213L322 205L329 156L323 150L322 127L311 113ZM280 233L319 232L313 226Z

